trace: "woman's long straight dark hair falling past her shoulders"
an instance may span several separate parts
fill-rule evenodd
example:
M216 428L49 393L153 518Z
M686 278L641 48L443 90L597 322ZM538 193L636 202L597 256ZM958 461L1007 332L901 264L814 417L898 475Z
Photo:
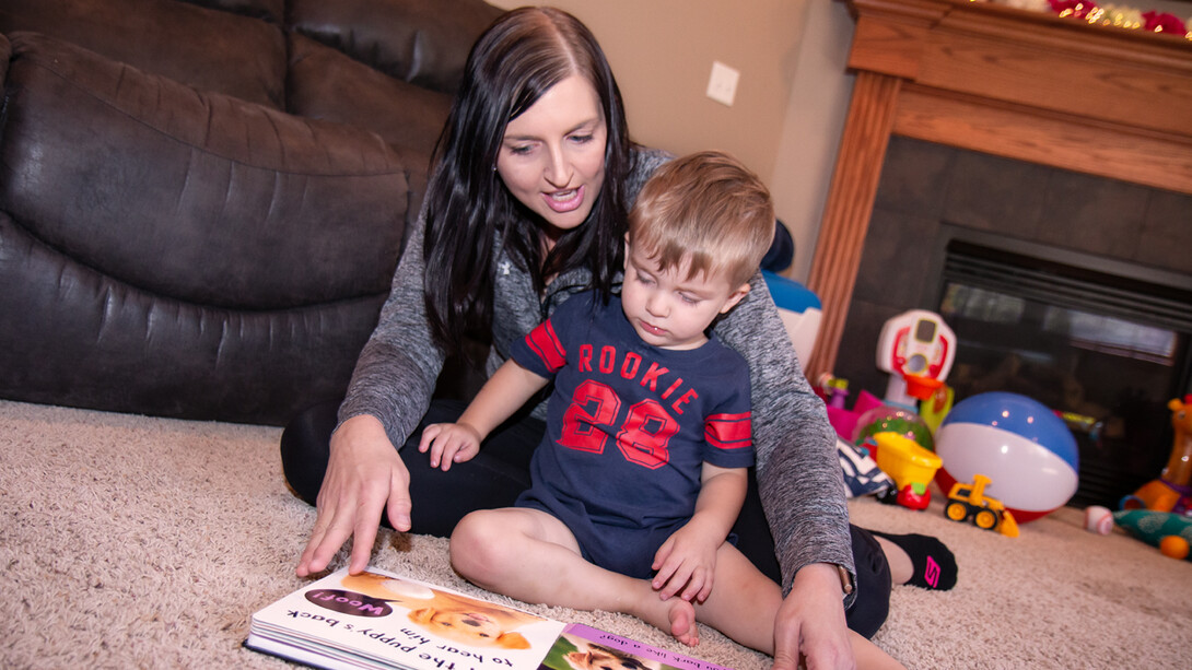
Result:
M505 190L497 155L508 123L572 75L595 87L608 125L604 184L584 224L544 255L538 216ZM491 333L498 234L539 292L546 278L588 267L608 297L623 250L631 160L621 93L586 26L550 7L514 10L489 26L468 54L427 186L427 317L447 354L464 350L465 333Z

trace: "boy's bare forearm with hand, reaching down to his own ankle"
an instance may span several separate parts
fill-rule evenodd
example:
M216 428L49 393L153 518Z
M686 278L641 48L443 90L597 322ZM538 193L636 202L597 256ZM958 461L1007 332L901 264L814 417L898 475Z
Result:
M745 502L749 486L744 467L703 464L695 514L654 554L652 582L659 597L678 595L703 602L712 593L716 552L725 542Z

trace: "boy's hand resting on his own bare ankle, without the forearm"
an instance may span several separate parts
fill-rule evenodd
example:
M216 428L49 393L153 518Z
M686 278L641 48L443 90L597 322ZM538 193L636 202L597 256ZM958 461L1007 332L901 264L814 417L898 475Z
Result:
M702 531L697 519L676 531L654 553L652 567L657 573L651 585L658 596L668 600L677 594L685 601L708 600L721 542L724 538Z

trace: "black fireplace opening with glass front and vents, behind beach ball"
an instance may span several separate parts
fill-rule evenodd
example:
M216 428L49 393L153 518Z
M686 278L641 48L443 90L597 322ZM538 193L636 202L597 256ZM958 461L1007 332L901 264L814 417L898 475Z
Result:
M957 401L1031 397L1080 449L1068 502L1116 509L1159 477L1172 398L1192 392L1192 278L944 224L936 311L956 334Z

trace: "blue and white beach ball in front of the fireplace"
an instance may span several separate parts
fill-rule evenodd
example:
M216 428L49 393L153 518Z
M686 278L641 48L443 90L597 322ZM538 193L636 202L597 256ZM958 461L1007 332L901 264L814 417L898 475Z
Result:
M936 474L944 495L954 483L985 474L985 494L1019 523L1050 514L1076 492L1080 452L1072 430L1043 403L1018 393L956 403L936 432L936 453L944 460Z

